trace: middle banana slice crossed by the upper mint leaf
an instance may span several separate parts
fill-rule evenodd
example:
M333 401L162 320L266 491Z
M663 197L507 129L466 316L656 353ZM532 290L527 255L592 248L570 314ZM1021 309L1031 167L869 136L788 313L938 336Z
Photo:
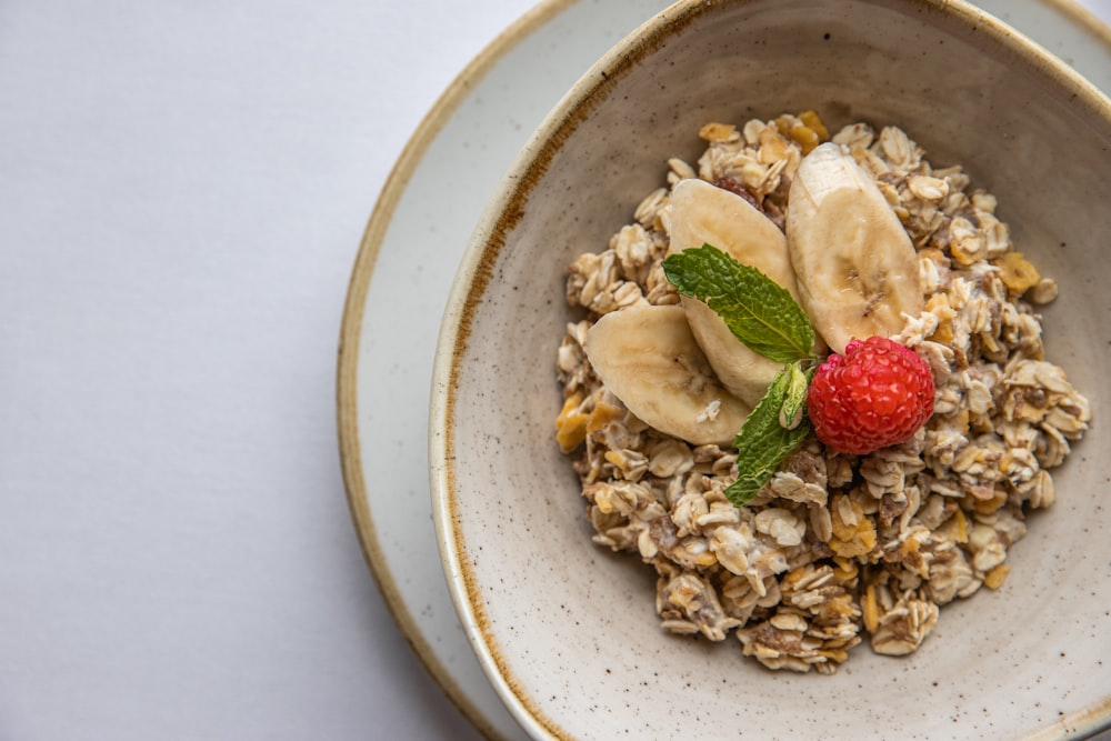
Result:
M704 180L682 180L671 192L671 251L709 243L752 266L799 298L783 232L735 193ZM710 307L683 300L687 320L722 385L754 407L782 368L753 352Z

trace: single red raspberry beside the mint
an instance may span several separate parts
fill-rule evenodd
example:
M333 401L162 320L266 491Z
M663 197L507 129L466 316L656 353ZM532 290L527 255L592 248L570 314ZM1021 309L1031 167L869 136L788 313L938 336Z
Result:
M883 337L852 340L814 373L807 411L818 439L863 455L910 439L933 413L933 374L913 350Z

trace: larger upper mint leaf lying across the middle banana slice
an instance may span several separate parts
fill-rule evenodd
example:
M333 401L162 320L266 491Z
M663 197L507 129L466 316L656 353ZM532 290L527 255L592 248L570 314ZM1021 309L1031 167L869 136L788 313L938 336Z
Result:
M741 342L775 362L810 356L814 328L791 293L711 244L668 256L663 272L679 293L704 301Z

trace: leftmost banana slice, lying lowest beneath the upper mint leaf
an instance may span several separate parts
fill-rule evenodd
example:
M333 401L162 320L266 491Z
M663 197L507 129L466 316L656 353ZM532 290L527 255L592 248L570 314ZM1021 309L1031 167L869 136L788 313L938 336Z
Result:
M732 444L749 407L718 383L679 306L613 311L587 332L587 358L633 414L695 445Z

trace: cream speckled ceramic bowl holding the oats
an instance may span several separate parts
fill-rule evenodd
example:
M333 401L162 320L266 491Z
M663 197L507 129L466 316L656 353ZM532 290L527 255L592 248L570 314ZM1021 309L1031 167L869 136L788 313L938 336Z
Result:
M654 575L591 543L553 441L564 268L604 249L693 161L709 120L814 108L902 126L994 192L1019 248L1061 286L1051 358L1094 429L1011 577L942 609L905 659L867 645L832 677L773 673L739 643L660 629ZM1057 738L1111 724L1111 103L961 2L691 0L650 20L568 94L473 238L434 370L430 451L444 568L497 690L537 739Z

